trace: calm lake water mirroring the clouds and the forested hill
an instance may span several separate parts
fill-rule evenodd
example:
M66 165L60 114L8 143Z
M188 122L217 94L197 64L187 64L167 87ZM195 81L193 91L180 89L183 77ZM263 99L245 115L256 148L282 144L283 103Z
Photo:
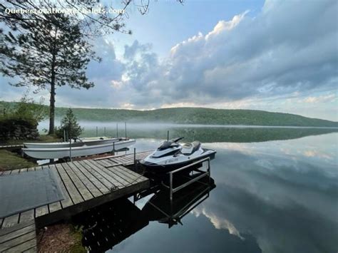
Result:
M84 135L95 131L87 127ZM113 126L108 131L115 135ZM150 214L147 202L153 195L136 203L135 214L128 203L104 207L106 224L109 219L121 220L113 218L119 213L133 217L133 222L127 219L130 224L122 222L129 230L108 243L107 249L113 247L108 252L337 252L338 133L334 131L171 127L171 137L201 140L205 148L217 150L211 162L216 187L207 193L197 188L183 192L180 207L194 198L192 206L205 200L180 220L182 224L171 228ZM128 135L142 138L135 144L142 151L155 149L167 133L158 126L135 126ZM112 222L112 227L117 226ZM103 237L111 233L102 231Z

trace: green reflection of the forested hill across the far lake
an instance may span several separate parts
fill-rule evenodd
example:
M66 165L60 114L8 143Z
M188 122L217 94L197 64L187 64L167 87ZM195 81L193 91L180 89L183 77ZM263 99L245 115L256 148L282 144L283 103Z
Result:
M95 136L96 129L91 125L84 125L83 136ZM103 128L98 135L103 135ZM148 125L142 128L140 125L128 124L127 135L130 138L166 139L167 130L171 138L185 137L185 141L200 140L203 143L228 142L228 143L253 143L265 142L268 140L291 140L309 135L322 135L325 133L338 132L338 128L257 128L257 127L208 127L194 125ZM124 129L120 131L121 136L125 135ZM116 135L115 128L106 128L106 135Z

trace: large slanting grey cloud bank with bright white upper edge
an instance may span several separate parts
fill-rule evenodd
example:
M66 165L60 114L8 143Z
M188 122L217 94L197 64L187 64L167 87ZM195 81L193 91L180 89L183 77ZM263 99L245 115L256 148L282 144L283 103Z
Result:
M206 36L198 33L173 46L164 61L152 63L144 57L148 52L134 62L128 85L144 97L130 100L143 108L250 106L265 98L332 91L337 87L337 26L331 22L336 11L334 1L267 1L255 18L244 11L219 21Z

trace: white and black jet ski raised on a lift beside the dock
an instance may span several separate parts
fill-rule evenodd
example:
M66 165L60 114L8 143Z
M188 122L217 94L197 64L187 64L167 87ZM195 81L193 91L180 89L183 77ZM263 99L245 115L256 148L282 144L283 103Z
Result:
M180 144L178 141L181 139L183 137L163 142L152 154L140 160L140 164L150 172L163 173L203 158L215 157L216 151L201 148L199 141Z

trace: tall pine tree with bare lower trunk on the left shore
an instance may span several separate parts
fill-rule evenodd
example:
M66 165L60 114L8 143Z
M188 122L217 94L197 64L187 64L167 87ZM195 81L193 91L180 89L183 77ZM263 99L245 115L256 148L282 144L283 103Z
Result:
M86 68L96 58L91 44L81 34L78 24L68 16L55 14L50 22L32 20L23 24L27 33L7 33L0 53L6 56L0 71L5 76L20 77L13 86L36 86L50 93L49 131L54 133L56 88L91 88Z

